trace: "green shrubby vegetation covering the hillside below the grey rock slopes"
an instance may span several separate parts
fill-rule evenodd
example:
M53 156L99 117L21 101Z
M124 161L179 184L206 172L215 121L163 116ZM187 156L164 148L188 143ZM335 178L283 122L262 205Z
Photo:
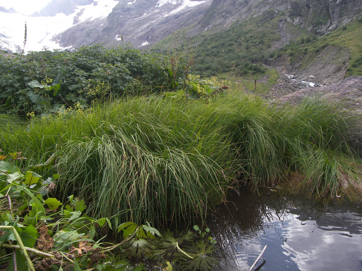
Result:
M317 36L287 22L284 13L270 10L263 16L235 22L228 29L211 29L181 39L185 33L187 29L175 31L153 46L151 52L165 54L175 48L186 50L194 57L191 69L203 77L225 77L225 74L232 73L237 78L253 81L264 76L269 69L267 65L278 62L281 57L288 59L291 67L302 63L300 68L303 69L311 65L327 46L336 46L346 48L350 53L345 77L362 74L362 18L324 36ZM176 42L173 37L176 37ZM298 70L294 72L298 73ZM269 88L271 85L268 84Z

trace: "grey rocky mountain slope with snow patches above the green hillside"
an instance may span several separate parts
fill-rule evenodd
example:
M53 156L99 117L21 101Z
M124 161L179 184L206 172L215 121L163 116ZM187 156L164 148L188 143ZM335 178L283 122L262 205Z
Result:
M55 0L54 0L55 1ZM362 0L120 0L106 20L80 23L56 36L63 47L91 42L108 46L130 42L136 47L154 44L189 27L188 34L228 29L259 15L266 20L285 13L285 20L324 35L361 16Z

